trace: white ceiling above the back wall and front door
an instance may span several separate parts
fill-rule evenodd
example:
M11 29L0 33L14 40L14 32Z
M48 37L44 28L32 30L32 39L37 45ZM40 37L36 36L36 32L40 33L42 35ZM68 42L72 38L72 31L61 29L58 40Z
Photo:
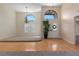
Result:
M16 12L40 12L42 6L60 6L60 3L7 3L3 4L13 8Z

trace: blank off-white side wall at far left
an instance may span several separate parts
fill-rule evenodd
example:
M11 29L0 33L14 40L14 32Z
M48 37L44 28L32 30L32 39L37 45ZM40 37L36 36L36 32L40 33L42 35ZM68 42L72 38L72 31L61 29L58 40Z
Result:
M16 34L16 15L8 6L0 5L0 39Z

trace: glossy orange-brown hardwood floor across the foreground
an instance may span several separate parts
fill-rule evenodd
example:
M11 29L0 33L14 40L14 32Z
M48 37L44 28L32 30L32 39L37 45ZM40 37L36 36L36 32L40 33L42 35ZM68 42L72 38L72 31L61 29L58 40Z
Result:
M39 42L0 42L0 51L79 51L62 39L43 39Z

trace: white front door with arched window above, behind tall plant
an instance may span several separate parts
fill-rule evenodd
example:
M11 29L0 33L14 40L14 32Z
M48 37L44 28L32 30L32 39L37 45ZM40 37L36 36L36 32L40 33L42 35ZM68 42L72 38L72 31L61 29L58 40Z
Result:
M59 38L58 14L55 10L47 10L44 12L43 21L49 22L48 38Z

